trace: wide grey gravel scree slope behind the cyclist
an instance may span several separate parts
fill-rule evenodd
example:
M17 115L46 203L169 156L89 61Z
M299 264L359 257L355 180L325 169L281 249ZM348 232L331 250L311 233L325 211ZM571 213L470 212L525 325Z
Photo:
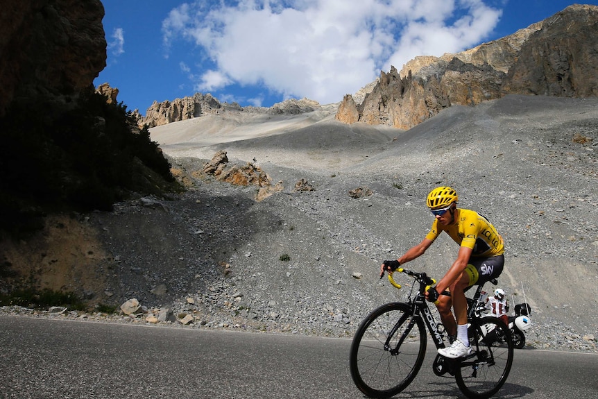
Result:
M193 188L90 215L112 256L103 291L155 314L191 314L192 328L351 337L370 310L408 294L404 276L402 291L379 280L379 263L424 237L427 192L451 185L506 241L499 287L531 304L529 347L597 351L597 105L506 96L452 107L407 132L339 124L332 107L154 128ZM284 189L258 203L255 187L200 173L218 150L233 164L255 158ZM315 190L294 192L300 179ZM352 198L357 187L373 195ZM441 237L405 267L440 278L456 249Z

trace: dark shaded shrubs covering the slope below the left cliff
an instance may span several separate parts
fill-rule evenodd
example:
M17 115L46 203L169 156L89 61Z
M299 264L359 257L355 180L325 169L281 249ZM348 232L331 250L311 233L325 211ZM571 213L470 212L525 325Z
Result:
M19 236L41 228L49 212L112 210L130 192L157 194L155 184L142 183L147 172L139 164L175 187L148 128L133 126L126 105L97 93L83 93L69 110L13 104L0 118L0 230Z

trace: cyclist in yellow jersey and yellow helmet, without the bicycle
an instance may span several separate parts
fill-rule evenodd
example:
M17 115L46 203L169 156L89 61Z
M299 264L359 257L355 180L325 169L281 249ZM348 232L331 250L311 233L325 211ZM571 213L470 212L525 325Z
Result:
M451 359L471 352L465 291L472 285L497 278L504 266L504 243L495 227L481 214L458 208L457 201L459 197L451 187L433 189L427 196L427 206L435 219L426 237L398 260L385 260L380 266L380 277L384 271L395 271L401 264L423 255L443 231L459 244L452 266L436 287L426 292L427 300L436 303L451 341L451 346L438 349L438 353ZM443 291L450 291L450 296L439 296Z

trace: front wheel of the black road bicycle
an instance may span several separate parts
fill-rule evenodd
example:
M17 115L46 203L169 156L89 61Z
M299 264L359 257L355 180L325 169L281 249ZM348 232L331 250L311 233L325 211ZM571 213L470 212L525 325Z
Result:
M396 395L416 377L426 352L425 325L413 307L388 303L361 322L349 365L357 388L370 398Z

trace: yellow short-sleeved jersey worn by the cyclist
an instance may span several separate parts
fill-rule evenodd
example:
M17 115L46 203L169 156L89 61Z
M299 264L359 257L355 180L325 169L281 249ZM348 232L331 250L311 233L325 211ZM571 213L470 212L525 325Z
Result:
M496 228L475 211L459 208L459 220L449 226L441 226L438 219L434 219L426 238L434 241L443 231L460 246L471 248L472 256L488 257L504 253L504 242Z

